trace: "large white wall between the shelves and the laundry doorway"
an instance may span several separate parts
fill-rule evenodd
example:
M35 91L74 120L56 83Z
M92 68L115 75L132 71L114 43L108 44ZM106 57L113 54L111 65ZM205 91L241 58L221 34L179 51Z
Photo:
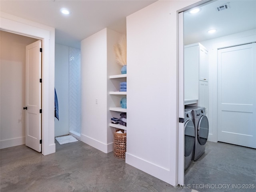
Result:
M177 10L158 1L127 17L126 163L176 184Z

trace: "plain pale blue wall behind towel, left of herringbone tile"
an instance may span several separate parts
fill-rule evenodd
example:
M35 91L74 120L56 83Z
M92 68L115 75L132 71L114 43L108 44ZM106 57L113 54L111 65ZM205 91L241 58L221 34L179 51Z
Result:
M55 89L59 107L55 136L61 136L69 132L69 47L60 44L55 44Z

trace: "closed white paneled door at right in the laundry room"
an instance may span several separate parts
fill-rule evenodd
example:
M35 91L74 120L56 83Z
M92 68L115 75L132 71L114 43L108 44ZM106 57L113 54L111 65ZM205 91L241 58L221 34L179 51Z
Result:
M255 43L218 50L218 141L256 148Z

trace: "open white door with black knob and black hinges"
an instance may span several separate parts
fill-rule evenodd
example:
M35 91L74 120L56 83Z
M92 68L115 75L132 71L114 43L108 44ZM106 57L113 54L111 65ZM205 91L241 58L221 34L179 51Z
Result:
M38 152L42 150L41 44L41 40L38 40L26 46L26 146Z

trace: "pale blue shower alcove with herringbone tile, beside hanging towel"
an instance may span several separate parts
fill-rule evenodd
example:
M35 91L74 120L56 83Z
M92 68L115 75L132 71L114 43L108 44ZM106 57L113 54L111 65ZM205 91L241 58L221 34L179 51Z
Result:
M55 118L55 137L72 135L80 140L81 80L80 49L55 44L55 89L59 120Z

